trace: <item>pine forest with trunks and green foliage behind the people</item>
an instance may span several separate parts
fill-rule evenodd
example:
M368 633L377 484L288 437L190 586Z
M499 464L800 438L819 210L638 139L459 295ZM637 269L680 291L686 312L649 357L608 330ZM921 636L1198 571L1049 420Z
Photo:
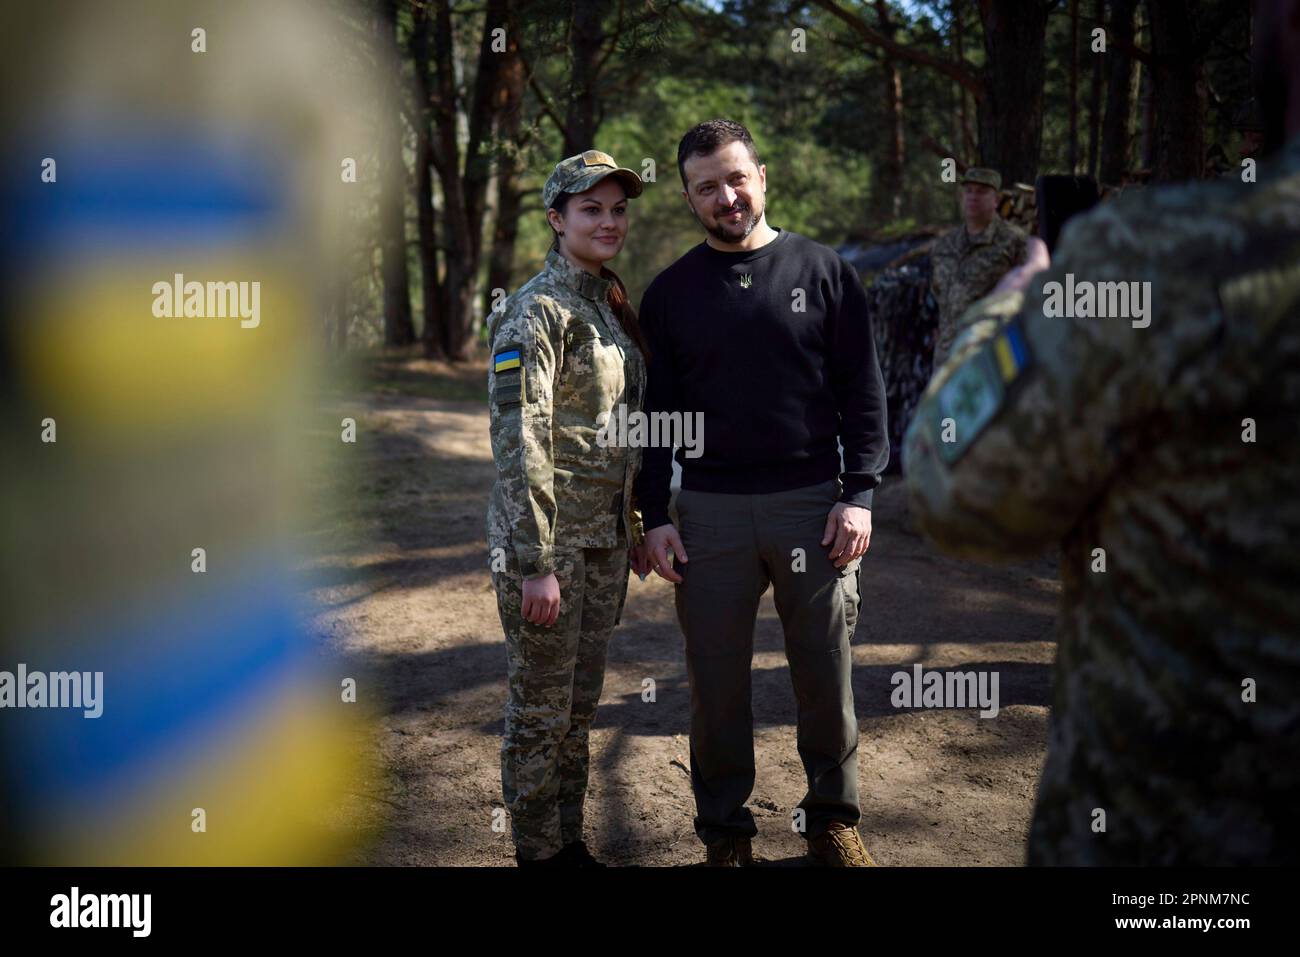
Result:
M368 0L334 5L338 69L384 100L356 160L335 352L471 359L494 303L538 270L541 186L586 148L646 179L611 264L633 303L703 234L676 150L744 122L768 220L832 247L956 225L949 173L1102 185L1235 161L1249 105L1242 0ZM950 178L950 176L949 176Z

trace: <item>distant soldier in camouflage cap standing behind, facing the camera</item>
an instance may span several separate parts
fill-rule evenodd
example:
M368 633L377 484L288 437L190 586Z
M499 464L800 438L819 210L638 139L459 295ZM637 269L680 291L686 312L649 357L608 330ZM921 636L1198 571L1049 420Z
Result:
M972 302L997 283L1010 269L1045 254L1041 244L1028 247L1023 229L997 215L1002 177L993 169L971 166L961 181L961 226L944 234L930 251L931 289L939 303L939 339L935 368L948 358L957 338L958 320Z

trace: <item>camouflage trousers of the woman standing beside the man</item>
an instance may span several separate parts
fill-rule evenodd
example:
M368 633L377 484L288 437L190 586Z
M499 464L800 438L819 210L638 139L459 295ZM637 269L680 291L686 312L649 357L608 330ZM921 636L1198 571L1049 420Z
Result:
M519 564L514 549L504 553L504 571L493 571L508 679L500 784L515 848L537 859L582 839L588 739L627 597L628 551L555 549L560 615L549 628L524 620Z

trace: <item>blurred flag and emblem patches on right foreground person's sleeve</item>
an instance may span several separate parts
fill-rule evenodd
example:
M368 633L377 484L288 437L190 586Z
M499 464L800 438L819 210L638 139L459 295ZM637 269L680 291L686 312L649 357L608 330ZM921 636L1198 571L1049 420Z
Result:
M945 464L956 463L975 443L1031 364L1024 330L1015 319L953 372L935 397L931 423Z

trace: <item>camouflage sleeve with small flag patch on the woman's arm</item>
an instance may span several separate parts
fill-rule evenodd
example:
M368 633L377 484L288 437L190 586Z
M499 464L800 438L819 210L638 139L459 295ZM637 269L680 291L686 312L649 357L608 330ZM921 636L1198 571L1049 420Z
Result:
M533 308L507 308L491 335L491 450L520 570L555 570L555 465L551 421L560 337Z

